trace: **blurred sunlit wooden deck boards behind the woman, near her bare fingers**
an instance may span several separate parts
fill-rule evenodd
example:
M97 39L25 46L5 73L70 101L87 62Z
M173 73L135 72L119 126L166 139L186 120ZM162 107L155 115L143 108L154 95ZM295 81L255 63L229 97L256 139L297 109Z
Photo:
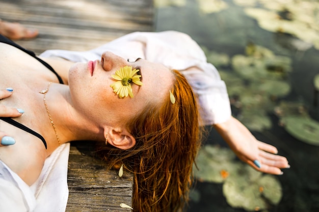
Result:
M152 0L4 1L0 18L38 28L39 36L17 41L37 54L46 49L85 51L136 31L153 31Z

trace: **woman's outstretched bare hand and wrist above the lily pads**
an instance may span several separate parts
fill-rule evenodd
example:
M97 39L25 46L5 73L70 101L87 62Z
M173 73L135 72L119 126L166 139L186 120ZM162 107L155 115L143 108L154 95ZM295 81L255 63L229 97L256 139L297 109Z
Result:
M258 141L236 118L231 117L225 123L214 125L214 128L237 157L254 169L270 174L282 174L281 168L290 167L285 157L275 155L278 153L275 146Z

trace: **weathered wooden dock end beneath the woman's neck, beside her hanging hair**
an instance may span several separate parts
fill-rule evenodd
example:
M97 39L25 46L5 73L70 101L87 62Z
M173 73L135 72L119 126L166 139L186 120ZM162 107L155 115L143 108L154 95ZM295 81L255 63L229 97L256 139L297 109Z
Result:
M117 171L107 170L105 163L94 158L93 153L93 145L88 142L71 145L66 211L130 211L120 207L120 204L131 205L132 174L124 172L119 177Z

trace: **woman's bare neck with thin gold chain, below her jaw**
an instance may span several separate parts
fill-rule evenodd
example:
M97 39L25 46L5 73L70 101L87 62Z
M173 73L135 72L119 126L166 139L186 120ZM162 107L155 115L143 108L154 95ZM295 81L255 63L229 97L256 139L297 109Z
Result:
M52 83L43 97L44 107L46 103L44 120L47 120L43 136L48 148L73 140L98 140L103 136L98 126L74 109L76 107L72 104L69 86Z

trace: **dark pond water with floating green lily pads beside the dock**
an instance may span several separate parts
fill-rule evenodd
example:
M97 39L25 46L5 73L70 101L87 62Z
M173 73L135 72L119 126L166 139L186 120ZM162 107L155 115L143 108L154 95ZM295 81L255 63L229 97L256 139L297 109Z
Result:
M196 40L227 84L233 115L257 139L275 145L291 166L283 170L282 176L275 176L280 182L276 187L281 187L282 192L279 202L267 200L267 195L272 195L261 186L251 200L249 194L244 195L247 187L243 186L237 188L231 199L242 198L242 202L260 207L236 205L227 199L229 188L233 188L227 177L232 173L214 170L205 173L208 178L199 177L187 211L319 211L319 94L314 87L314 78L319 74L319 2L155 2L156 31L177 30ZM210 132L207 144L227 147L213 129ZM223 162L216 160L210 163L219 169ZM233 164L240 163L232 160ZM213 172L222 174L219 179L227 177L211 180L216 179ZM233 173L238 179L243 176ZM261 177L264 175L260 175L259 181ZM258 203L259 197L262 203Z

